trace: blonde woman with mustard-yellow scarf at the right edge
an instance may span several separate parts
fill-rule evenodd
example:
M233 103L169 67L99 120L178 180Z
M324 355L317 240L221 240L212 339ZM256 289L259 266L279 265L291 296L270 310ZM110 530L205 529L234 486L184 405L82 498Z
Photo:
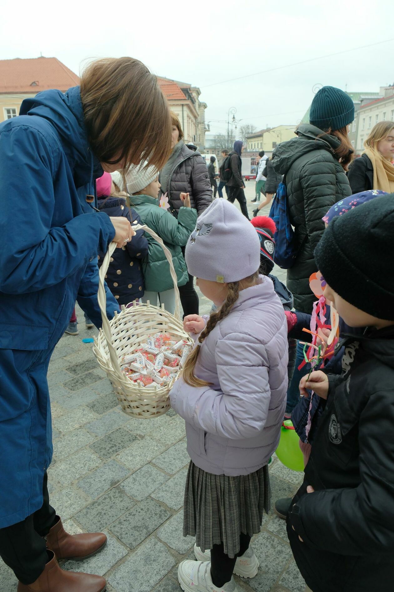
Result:
M394 192L394 123L381 121L364 142L364 152L349 167L351 192L368 189Z

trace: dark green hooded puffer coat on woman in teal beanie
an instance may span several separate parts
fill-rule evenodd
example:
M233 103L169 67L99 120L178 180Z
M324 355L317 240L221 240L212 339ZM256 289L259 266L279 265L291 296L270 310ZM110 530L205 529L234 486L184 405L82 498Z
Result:
M298 244L294 265L287 271L287 287L296 310L311 313L315 296L309 278L317 271L313 252L324 232L321 218L331 205L351 195L351 189L334 153L340 145L338 138L310 124L299 126L297 134L276 147L272 167L285 175L290 221Z

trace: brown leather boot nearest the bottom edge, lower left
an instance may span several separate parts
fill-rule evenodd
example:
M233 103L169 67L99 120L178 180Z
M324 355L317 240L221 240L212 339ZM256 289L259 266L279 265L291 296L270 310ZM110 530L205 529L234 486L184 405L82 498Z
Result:
M45 565L40 577L32 584L18 582L18 592L105 592L107 583L99 575L64 571L58 566L56 557Z

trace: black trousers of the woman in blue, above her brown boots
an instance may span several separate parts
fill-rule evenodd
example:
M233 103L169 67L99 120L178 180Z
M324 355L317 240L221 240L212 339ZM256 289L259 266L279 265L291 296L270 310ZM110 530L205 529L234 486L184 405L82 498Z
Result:
M0 529L0 556L22 584L32 584L48 561L47 535L56 522L56 512L49 504L47 474L43 482L44 503L31 516Z

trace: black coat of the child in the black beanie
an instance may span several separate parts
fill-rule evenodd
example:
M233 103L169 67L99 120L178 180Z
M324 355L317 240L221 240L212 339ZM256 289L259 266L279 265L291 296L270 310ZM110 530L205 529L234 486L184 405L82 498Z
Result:
M288 536L314 592L391 590L393 327L349 337L342 366L343 375L329 377L327 405L288 516ZM315 493L306 493L307 485Z

